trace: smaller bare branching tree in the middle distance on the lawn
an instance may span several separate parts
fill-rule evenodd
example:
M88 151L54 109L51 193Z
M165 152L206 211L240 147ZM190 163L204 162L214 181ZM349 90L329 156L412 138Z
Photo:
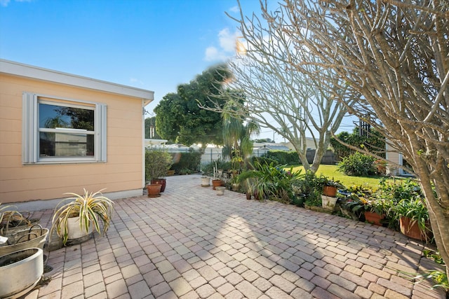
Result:
M327 73L329 83L323 85L315 76L300 73L292 62L300 62L309 56L306 48L296 48L291 39L280 28L272 27L262 17L253 14L246 18L241 11L240 18L234 18L241 32L243 50L236 59L229 62L234 78L223 90L232 95L242 95L226 107L207 107L215 111L232 114L236 118L255 121L290 141L305 169L316 172L321 158L328 148L331 132L342 122L346 107L336 102L335 96L347 97L347 88L340 76L319 65L310 65L309 71ZM284 59L279 59L283 57ZM316 59L316 58L315 58ZM348 99L349 101L349 99ZM306 158L307 137L315 142L313 163Z

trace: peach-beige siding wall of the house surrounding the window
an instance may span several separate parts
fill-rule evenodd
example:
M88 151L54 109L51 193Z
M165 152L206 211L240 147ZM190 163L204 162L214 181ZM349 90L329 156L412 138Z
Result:
M22 92L107 104L107 162L22 165ZM142 188L142 99L0 74L0 202Z

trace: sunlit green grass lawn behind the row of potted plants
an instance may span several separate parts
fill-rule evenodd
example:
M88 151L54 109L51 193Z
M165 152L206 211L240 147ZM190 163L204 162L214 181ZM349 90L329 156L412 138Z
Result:
M297 166L293 168L293 171L297 171L299 169L301 170L301 173L304 173L304 167ZM370 188L377 188L379 186L379 181L382 178L382 176L347 176L346 174L343 174L342 172L337 171L336 165L320 165L318 171L316 172L317 175L323 174L324 176L327 176L329 179L334 179L335 181L340 181L344 186L367 186ZM391 179L393 181L393 179Z

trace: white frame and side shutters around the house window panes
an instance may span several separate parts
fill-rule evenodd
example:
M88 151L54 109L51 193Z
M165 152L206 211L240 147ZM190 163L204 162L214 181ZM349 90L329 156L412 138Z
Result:
M42 98L42 99L41 99ZM54 102L52 102L52 99ZM94 155L89 157L39 157L39 103L64 104L67 106L95 106L94 108ZM59 102L59 103L58 103ZM69 130L67 132L76 132ZM22 94L22 164L54 164L54 163L82 163L107 162L107 105L86 102L79 99L54 97L33 92Z

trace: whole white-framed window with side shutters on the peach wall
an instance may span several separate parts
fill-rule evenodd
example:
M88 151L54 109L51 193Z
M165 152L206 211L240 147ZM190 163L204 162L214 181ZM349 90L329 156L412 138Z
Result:
M23 94L22 162L106 162L106 105Z

